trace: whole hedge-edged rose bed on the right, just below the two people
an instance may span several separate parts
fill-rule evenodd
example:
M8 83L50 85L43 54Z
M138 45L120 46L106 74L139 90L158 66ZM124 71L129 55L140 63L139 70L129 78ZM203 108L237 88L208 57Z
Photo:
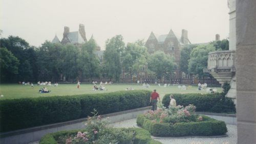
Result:
M158 108L137 116L138 126L154 136L214 136L225 135L226 124L222 121L195 114L196 107L189 105Z

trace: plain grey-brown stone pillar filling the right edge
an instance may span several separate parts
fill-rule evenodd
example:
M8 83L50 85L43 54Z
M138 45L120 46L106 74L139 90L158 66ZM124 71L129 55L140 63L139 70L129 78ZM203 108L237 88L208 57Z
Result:
M256 1L237 0L238 143L256 143Z

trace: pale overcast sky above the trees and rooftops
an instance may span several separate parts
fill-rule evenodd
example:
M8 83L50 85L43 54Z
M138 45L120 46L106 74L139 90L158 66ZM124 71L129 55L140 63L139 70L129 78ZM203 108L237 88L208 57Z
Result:
M40 46L55 34L62 39L65 26L78 31L79 23L86 37L94 36L101 49L106 39L122 35L124 42L145 41L153 31L181 35L188 31L191 43L203 43L228 37L227 0L0 0L2 37L19 36L30 45Z

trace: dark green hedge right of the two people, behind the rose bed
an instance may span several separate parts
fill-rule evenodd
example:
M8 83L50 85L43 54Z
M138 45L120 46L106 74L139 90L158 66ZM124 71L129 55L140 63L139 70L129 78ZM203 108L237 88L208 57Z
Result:
M170 103L170 94L165 94L162 100L163 106L168 107ZM196 111L217 112L217 113L236 113L236 107L230 98L223 100L222 93L175 93L174 99L177 105L188 106L193 104Z

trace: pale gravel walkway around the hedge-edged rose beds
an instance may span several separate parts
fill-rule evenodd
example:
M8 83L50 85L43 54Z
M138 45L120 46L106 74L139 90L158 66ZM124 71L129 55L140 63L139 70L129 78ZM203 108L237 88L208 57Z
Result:
M122 128L129 128L129 127L138 127L136 125L136 118L134 119L129 119L126 121L118 122L118 123L113 123L111 124L114 127L122 127ZM237 143L237 126L236 125L227 125L227 137L219 137L219 138L162 138L162 139L157 139L154 138L163 144L234 144Z

